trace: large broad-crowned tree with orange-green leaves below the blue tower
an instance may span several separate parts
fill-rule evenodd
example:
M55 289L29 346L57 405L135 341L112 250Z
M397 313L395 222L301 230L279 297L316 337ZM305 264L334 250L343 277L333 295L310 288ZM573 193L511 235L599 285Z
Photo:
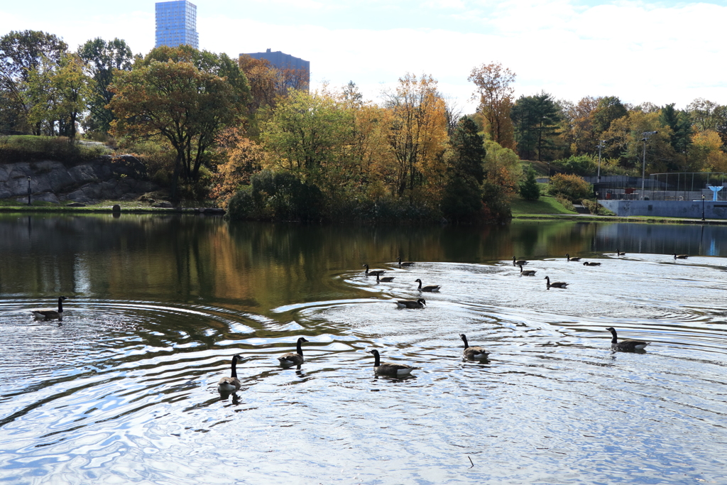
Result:
M160 50L154 49L148 57L158 55L155 51ZM232 72L236 83L228 76L217 75L237 69L236 64L230 67L222 59L217 65L214 60L220 58L214 55L199 57L193 60L214 72L190 62L148 58L135 63L132 71L117 72L109 88L113 92L111 110L116 117L111 122L114 135L161 137L176 151L172 199L180 175L190 182L197 179L206 150L220 129L241 121L249 92L244 75L238 73L236 77Z

